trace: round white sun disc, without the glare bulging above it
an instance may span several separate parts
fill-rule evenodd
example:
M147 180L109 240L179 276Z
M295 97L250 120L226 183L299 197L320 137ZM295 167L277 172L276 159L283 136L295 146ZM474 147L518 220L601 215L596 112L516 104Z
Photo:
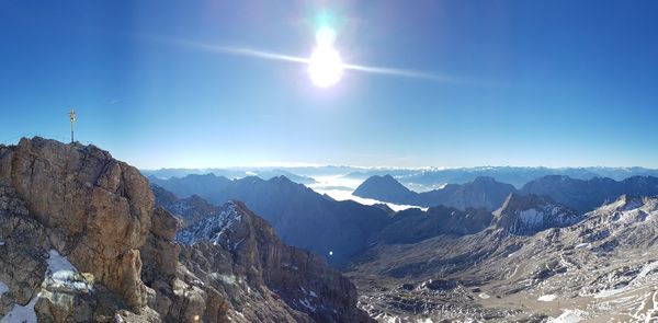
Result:
M343 73L338 50L329 45L318 45L308 59L310 81L319 88L329 88L340 81Z

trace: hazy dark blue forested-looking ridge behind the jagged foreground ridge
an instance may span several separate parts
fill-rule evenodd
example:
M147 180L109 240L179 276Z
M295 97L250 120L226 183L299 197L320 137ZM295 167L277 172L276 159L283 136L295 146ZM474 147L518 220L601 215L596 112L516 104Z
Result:
M268 220L284 242L322 255L332 264L363 251L370 234L390 221L381 208L333 200L284 176L231 181L206 174L149 180L180 197L198 195L214 205L241 200Z

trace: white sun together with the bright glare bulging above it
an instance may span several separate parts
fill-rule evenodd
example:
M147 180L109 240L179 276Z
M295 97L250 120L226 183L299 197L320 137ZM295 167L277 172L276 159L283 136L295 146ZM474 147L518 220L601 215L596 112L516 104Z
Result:
M308 59L308 74L316 86L329 88L340 81L343 72L340 54L333 48L336 32L320 27L316 41L317 46Z

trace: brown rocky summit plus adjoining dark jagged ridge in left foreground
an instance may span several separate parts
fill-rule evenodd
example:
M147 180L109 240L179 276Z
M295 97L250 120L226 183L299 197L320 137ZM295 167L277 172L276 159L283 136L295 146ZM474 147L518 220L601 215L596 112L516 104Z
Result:
M94 146L0 146L1 322L370 320L347 278L242 204L186 224Z

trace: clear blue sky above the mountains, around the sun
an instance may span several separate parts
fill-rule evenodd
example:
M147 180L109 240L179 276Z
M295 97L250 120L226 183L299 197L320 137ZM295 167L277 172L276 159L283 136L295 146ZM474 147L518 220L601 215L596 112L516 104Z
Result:
M658 168L657 1L0 0L0 140L77 137L139 168ZM333 20L345 62L306 66Z

